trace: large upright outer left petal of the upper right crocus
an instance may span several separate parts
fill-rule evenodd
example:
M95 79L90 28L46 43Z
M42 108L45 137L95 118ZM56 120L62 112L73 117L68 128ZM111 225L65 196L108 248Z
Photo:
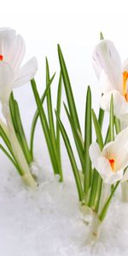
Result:
M113 84L113 88L119 89L122 80L121 61L113 42L102 40L100 44L96 45L93 53L93 66L98 77L104 70Z

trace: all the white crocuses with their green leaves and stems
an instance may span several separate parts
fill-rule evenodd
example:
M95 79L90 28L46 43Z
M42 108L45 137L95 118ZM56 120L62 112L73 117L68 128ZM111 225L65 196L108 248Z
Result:
M55 175L63 181L61 167L60 134L63 137L72 166L79 207L85 223L90 224L89 241L96 241L113 195L121 183L122 199L128 201L128 60L121 63L117 49L109 40L96 45L92 62L102 88L99 116L92 109L91 90L88 86L85 103L84 135L73 97L73 88L67 72L66 62L58 45L60 76L58 82L55 116L50 86L55 73L50 77L46 58L46 88L43 96L38 94L34 76L38 70L37 59L32 57L24 66L25 43L20 35L9 28L0 29L0 101L4 116L0 119L0 136L6 148L0 144L22 180L32 189L38 186L38 168L34 166L33 138L38 118L49 150L49 158ZM21 67L20 67L21 66ZM31 81L37 110L32 119L30 146L20 118L20 108L13 89ZM68 131L61 121L62 81L67 96L64 108L69 121L79 166ZM46 100L46 110L44 101ZM108 131L104 138L102 125L105 112L109 113ZM56 119L55 119L56 117ZM93 122L93 125L92 125ZM96 142L92 142L92 130L96 131ZM33 168L34 166L34 168Z

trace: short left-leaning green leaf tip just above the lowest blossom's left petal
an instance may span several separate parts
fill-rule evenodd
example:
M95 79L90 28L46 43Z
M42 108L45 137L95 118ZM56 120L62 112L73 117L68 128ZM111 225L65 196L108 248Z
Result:
M97 143L99 144L99 147L102 150L102 148L103 148L102 131L101 131L99 122L98 122L98 120L96 118L96 113L94 112L93 109L92 109L92 119L93 119L95 131L96 131Z

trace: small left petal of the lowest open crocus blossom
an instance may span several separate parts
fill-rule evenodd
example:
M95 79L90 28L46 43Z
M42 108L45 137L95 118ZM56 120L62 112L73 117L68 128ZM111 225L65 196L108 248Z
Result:
M89 148L89 154L90 154L90 160L92 162L92 165L96 168L98 168L98 158L101 155L101 149L99 148L98 143L92 143Z

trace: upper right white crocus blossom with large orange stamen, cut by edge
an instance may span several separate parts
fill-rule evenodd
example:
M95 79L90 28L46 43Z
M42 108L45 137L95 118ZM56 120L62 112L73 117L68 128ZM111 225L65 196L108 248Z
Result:
M93 67L102 85L101 108L109 111L113 94L114 114L128 119L128 59L122 64L113 42L102 40L94 50Z

